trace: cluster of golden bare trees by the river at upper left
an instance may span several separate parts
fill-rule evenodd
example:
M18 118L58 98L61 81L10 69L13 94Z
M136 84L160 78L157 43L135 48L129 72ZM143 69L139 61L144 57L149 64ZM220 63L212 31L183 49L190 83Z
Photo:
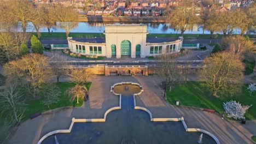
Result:
M50 29L60 22L58 27L65 29L68 37L69 31L78 25L78 15L71 7L62 5L33 5L25 0L0 2L0 62L5 63L26 54L26 45L31 45L31 33L27 33L30 23L33 23L37 37L40 38L40 28ZM21 29L22 32L19 31ZM31 39L31 40L30 40ZM33 51L42 53L42 44L36 44ZM40 46L41 45L41 46Z

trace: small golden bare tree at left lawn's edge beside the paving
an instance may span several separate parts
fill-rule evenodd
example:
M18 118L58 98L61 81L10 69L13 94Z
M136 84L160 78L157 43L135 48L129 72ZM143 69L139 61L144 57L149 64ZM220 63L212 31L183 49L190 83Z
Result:
M85 86L75 85L74 87L70 88L68 93L71 95L71 99L77 99L77 104L79 104L79 98L83 98L85 94L88 92L88 89Z

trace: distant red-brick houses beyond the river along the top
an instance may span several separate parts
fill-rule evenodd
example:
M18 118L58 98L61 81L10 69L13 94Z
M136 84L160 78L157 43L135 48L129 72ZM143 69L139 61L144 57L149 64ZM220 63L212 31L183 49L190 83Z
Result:
M223 1L217 0L217 5L208 5L206 8L220 12L229 11L231 9L248 7L253 0L234 0ZM173 8L179 5L179 0L135 0L128 2L126 0L34 0L35 4L62 4L66 7L73 6L78 14L95 15L95 16L161 16L166 8ZM198 0L197 2L200 2ZM101 7L99 7L100 5ZM197 7L196 11L200 14L202 7Z

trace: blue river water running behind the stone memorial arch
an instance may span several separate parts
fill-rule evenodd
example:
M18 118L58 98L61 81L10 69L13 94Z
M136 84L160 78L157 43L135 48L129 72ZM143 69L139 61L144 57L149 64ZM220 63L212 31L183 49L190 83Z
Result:
M105 26L107 24L140 24L140 23L127 23L127 22L113 22L113 23L105 23L105 22L79 22L78 26L71 30L74 33L102 33L105 30ZM177 32L176 29L170 27L168 23L148 23L144 22L143 24L147 25L147 29L149 33L181 33ZM56 27L52 28L51 31L53 32L65 32L64 29L58 28L57 26L59 23L56 23ZM27 27L28 32L35 32L33 25L30 23ZM43 27L40 28L40 32L48 32L48 29ZM202 28L199 25L194 25L193 29L190 31L185 31L185 34L202 34ZM222 33L222 32L215 32L215 33ZM240 29L234 29L234 34L240 34ZM210 34L209 31L205 31L205 34Z

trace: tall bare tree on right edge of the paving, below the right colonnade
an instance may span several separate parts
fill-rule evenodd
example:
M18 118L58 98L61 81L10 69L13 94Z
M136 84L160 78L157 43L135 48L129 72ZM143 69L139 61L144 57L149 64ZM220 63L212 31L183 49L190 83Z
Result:
M159 56L161 63L156 68L156 73L164 79L164 98L166 99L166 89L172 90L174 84L178 82L181 77L181 68L178 67L175 61L176 56L167 53Z

